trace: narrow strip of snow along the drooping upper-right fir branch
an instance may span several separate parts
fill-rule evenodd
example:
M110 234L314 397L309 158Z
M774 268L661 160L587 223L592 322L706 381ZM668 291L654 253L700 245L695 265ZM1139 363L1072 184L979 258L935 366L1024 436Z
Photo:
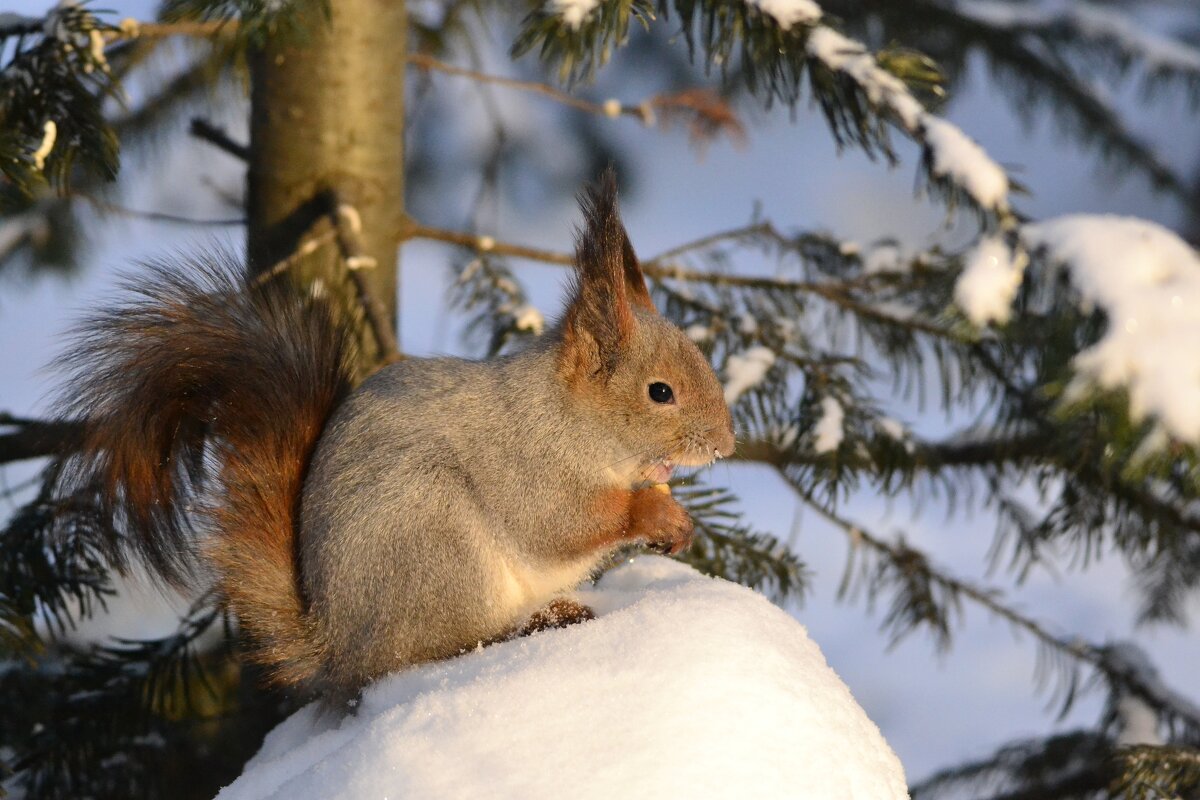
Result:
M889 109L911 136L929 148L934 175L961 187L980 207L1008 210L1008 175L1000 164L958 126L928 113L863 43L821 26L809 35L808 54L850 76L872 104Z

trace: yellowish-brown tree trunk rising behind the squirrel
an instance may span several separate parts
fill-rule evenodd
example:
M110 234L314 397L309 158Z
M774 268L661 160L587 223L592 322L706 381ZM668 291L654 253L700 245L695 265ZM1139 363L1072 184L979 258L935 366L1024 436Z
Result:
M326 8L322 8L322 6ZM331 203L362 222L367 285L396 329L397 233L404 213L403 0L304 2L296 34L276 32L250 54L247 252L262 271L329 225ZM316 225L316 228L314 228ZM300 257L287 278L353 303L336 246ZM367 355L378 343L366 335Z

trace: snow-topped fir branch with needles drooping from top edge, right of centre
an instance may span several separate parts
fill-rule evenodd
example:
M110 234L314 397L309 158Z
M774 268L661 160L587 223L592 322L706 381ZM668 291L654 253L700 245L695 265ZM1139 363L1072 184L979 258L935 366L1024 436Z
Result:
M658 10L677 14L688 47L744 80L751 94L794 106L808 77L808 91L839 143L890 158L888 130L896 127L922 146L931 188L1002 227L1010 223L1003 168L960 128L930 114L863 43L823 24L814 0L659 0ZM544 61L557 62L560 79L589 78L624 44L630 20L648 26L653 12L648 0L551 0L526 17L512 55L536 49ZM917 72L936 80L934 67L920 66Z

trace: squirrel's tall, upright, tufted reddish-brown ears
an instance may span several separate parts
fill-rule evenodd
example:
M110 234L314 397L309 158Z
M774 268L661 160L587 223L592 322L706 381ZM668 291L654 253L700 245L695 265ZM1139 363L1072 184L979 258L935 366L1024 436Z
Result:
M636 327L631 303L653 305L620 222L612 167L580 196L580 206L583 225L575 236L575 290L563 320L563 366L581 378L607 378Z

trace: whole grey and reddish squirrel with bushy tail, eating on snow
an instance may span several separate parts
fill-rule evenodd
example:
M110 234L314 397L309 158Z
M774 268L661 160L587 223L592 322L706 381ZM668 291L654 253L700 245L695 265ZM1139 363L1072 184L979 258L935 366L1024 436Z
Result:
M150 265L85 319L61 465L168 584L215 584L271 682L350 699L372 680L582 621L570 591L618 548L689 547L661 485L730 456L707 359L659 315L610 169L581 194L563 318L490 361L408 357L353 385L330 305L229 257Z

